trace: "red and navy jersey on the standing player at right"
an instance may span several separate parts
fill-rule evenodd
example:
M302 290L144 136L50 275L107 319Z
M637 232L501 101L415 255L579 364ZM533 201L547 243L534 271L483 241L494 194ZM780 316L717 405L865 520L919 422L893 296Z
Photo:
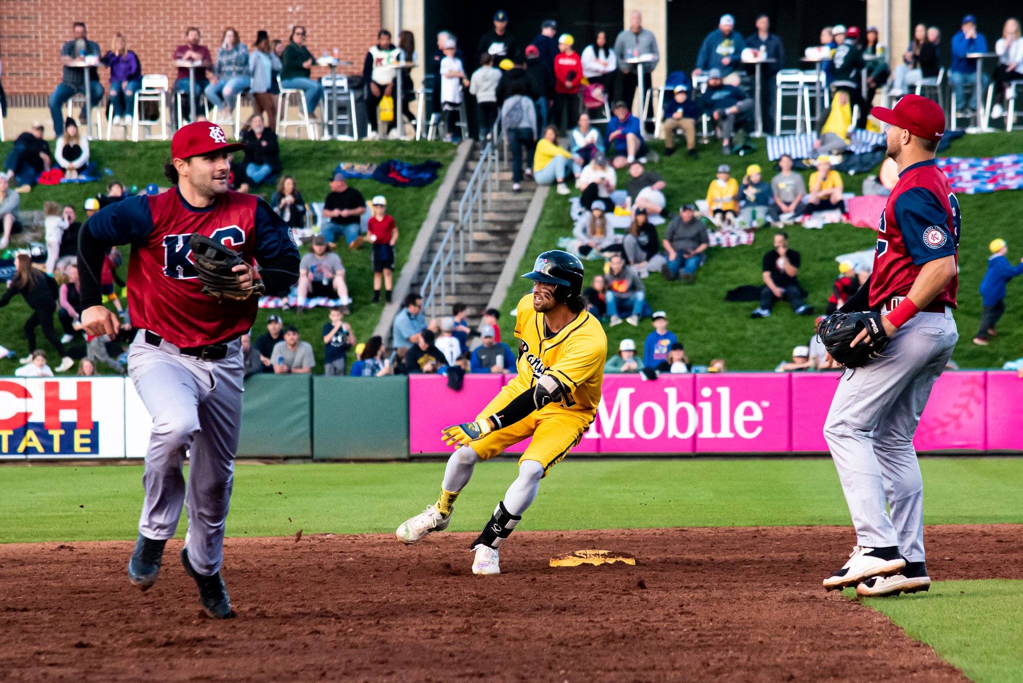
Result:
M903 170L878 226L870 306L908 294L928 261L951 256L958 263L961 221L959 202L934 160ZM934 301L954 308L958 289L957 274Z

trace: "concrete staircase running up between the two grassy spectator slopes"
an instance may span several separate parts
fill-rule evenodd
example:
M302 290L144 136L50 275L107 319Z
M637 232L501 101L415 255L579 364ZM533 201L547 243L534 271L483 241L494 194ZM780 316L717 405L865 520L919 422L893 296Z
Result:
M418 291L444 239L448 223L458 222L458 203L461 202L465 194L469 179L476 170L479 159L480 145L477 143L465 163L454 191L451 194L440 225L434 232L411 291ZM455 293L449 293L443 301L440 300L438 293L435 299L438 305L434 313L431 313L429 309L424 311L428 317L450 315L451 304L464 303L469 306L469 317L475 327L487 308L487 303L500 278L501 270L504 268L511 245L522 227L526 209L536 190L536 184L532 178L527 178L522 183L522 191L511 191L510 171L499 171L495 181L489 208L486 205L486 200L483 200L483 220L478 221L475 225L472 250L469 247L469 236L465 236L465 263L464 267L455 274ZM455 239L457 239L457 231Z

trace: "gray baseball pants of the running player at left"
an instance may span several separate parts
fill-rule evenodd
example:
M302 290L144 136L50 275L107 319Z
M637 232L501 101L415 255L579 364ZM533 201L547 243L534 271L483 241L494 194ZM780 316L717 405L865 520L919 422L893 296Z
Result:
M241 427L241 342L230 342L220 360L199 360L182 355L168 341L151 346L139 330L128 351L128 374L152 416L138 530L147 539L174 538L185 505L188 559L196 572L212 575L224 559L224 524ZM182 474L186 454L187 487Z

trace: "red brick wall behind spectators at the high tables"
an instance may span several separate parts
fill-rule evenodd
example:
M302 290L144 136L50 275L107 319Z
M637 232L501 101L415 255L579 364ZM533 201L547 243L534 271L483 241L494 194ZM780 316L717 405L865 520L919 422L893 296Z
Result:
M226 9L235 10L230 19ZM212 11L211 11L212 10ZM338 48L343 60L354 61L342 73L362 72L366 49L375 42L381 28L380 0L343 0L287 4L274 0L247 0L242 4L164 0L133 3L124 0L0 0L0 59L3 61L3 86L8 94L49 93L60 81L60 46L73 37L72 24L83 20L90 40L99 43L105 53L118 32L128 39L142 62L145 74L165 73L173 79L176 69L171 60L175 46L184 42L184 30L195 26L203 33L203 43L214 58L221 35L233 26L241 41L252 48L256 32L270 34L270 39L287 41L292 26L304 25L306 45L314 57L324 50ZM328 73L313 68L313 77ZM100 70L105 86L108 72Z

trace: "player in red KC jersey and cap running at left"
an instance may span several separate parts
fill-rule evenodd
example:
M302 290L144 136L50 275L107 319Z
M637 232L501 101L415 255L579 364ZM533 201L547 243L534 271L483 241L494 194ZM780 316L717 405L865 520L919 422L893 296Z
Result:
M174 537L185 504L188 532L181 563L214 618L233 615L220 567L241 424L239 338L252 327L259 297L204 294L189 237L206 236L238 252L243 264L233 272L242 288L261 282L268 293L280 292L299 272L287 225L262 200L228 190L227 155L243 147L229 143L220 126L209 122L181 128L171 142L172 163L165 167L175 187L112 204L79 232L82 326L93 336L116 335L119 328L118 317L101 303L103 255L115 245L132 246L128 305L138 331L128 372L152 416L152 433L128 577L143 591L155 583L164 545Z

